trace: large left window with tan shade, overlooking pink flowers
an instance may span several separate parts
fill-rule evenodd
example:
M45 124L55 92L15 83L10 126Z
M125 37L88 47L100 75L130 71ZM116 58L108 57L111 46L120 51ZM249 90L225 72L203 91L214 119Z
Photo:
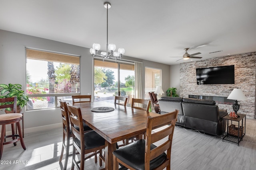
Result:
M26 109L58 107L58 99L72 102L80 93L80 57L26 49Z

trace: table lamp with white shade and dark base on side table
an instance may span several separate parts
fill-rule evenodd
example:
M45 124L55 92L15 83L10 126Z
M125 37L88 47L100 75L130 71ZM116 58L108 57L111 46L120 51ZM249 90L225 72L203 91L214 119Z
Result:
M244 96L244 93L239 88L234 88L227 99L236 100L235 103L233 104L233 110L236 113L236 115L240 108L240 104L238 104L237 100L247 100L246 97ZM239 117L239 115L237 115L237 117Z

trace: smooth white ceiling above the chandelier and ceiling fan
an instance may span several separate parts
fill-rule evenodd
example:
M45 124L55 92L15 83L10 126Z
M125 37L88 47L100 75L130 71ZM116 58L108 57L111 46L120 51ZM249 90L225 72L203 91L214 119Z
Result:
M256 0L0 0L0 29L125 56L178 64L256 51ZM221 51L218 53L210 52ZM199 59L194 59L198 61Z

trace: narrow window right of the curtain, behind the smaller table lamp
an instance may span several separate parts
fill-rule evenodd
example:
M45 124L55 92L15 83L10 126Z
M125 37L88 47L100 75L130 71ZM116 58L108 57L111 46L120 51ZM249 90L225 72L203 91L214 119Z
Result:
M148 92L154 92L156 86L162 85L162 69L145 67L145 99L150 98Z

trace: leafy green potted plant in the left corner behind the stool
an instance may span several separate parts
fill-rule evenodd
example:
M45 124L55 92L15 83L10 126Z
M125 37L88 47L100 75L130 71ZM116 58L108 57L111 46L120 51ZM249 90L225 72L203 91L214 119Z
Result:
M17 112L20 113L21 109L27 105L28 96L21 90L20 84L0 84L0 98L17 97ZM4 103L8 104L8 103ZM6 108L6 111L11 111L13 108Z

